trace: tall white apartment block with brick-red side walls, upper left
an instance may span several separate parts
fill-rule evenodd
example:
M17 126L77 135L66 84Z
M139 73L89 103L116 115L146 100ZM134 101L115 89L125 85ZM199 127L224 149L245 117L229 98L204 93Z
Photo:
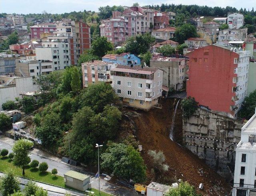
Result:
M65 47L68 44L70 64L76 65L80 54L90 49L90 26L82 21L59 22L53 35L48 36L48 41L62 42L61 45L64 44Z

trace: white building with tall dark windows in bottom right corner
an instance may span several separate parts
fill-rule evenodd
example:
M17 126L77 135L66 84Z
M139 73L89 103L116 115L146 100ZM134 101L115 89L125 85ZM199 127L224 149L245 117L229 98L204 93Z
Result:
M232 196L256 195L256 110L242 127L236 146L236 163Z

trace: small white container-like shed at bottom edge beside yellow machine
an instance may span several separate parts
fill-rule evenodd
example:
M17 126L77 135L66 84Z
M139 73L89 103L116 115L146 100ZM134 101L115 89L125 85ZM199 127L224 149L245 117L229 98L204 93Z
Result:
M164 196L172 187L151 182L147 186L147 196Z

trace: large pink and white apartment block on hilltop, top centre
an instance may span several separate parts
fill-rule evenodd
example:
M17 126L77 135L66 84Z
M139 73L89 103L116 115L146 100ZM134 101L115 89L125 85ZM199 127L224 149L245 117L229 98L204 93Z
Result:
M151 24L151 28L150 28ZM102 21L100 36L105 36L114 45L128 37L150 32L154 26L154 10L130 7L121 12L112 12L112 18Z

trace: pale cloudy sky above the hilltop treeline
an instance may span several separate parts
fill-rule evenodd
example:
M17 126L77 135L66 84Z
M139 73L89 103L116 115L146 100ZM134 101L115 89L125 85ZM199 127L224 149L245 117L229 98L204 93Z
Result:
M98 12L100 6L132 6L138 2L140 6L152 4L197 4L200 6L232 6L238 10L240 8L248 8L252 10L252 6L256 8L256 0L0 0L0 13L42 13L43 10L51 14L61 14L64 12L91 10ZM157 3L156 3L157 2ZM254 10L255 10L254 8Z

